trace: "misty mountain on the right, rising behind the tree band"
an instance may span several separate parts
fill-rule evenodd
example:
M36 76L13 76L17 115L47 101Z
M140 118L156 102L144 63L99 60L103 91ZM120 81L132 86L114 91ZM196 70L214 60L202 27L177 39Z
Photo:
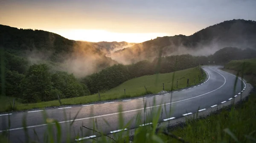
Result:
M153 60L161 55L209 55L223 47L256 49L256 22L229 20L209 26L190 36L157 37L111 54L120 63Z

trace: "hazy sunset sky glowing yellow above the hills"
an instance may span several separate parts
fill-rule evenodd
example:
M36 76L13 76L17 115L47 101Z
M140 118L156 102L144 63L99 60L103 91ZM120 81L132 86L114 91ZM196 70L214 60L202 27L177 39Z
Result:
M256 0L0 0L0 24L72 40L143 42L256 20Z

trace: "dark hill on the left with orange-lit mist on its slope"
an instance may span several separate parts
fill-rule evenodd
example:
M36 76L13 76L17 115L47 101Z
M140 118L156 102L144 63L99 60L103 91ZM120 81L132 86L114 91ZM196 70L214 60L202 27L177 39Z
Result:
M26 57L29 63L60 63L77 76L98 72L117 62L105 56L97 43L66 39L42 30L17 29L0 25L0 46L6 51Z

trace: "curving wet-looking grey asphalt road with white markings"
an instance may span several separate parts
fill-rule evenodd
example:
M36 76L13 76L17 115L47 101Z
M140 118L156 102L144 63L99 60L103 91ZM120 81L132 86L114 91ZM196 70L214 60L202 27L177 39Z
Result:
M0 132L9 132L10 140L13 143L25 141L25 133L23 129L23 117L26 115L26 125L28 126L28 134L32 139L36 137L34 131L38 134L38 138L43 140L44 132L47 130L47 124L44 122L43 112L46 112L49 118L59 121L62 130L61 139L63 142L67 139L67 126L76 116L71 129L71 138L75 141L77 135L79 140L90 137L99 136L89 129L81 128L82 125L93 128L93 120L97 122L98 129L105 134L119 132L119 105L122 105L122 115L124 123L131 121L130 126L126 129L134 129L138 126L146 126L151 124L151 118L145 119L145 114L150 113L156 107L162 108L159 122L173 120L175 118L184 117L195 112L201 112L210 109L228 100L233 100L241 96L246 90L246 83L237 80L234 92L234 83L236 77L227 72L218 69L219 66L205 66L204 70L208 74L208 79L197 86L192 86L183 90L170 92L167 94L155 95L154 97L138 97L137 99L122 100L117 102L106 102L100 104L70 106L59 109L38 110L30 112L17 112L13 114L0 114ZM155 103L154 103L155 99ZM146 104L146 109L144 105ZM169 111L171 110L171 114ZM64 112L66 112L66 117ZM134 117L140 113L139 119L141 124L136 124ZM167 113L167 114L166 114ZM150 115L149 115L150 116ZM11 125L8 126L8 118ZM105 121L108 122L105 123ZM55 129L54 129L55 130Z

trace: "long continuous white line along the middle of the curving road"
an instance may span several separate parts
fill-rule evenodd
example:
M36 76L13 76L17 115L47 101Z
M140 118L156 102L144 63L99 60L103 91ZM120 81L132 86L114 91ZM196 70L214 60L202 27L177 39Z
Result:
M212 71L216 72L216 71L213 70L213 69L212 69ZM219 72L217 72L217 73L220 74ZM187 98L187 99L175 101L175 102L172 102L172 103L161 104L161 105L157 105L157 106L149 106L149 107L146 107L145 109L150 109L150 108L154 108L154 107L169 105L169 104L173 104L173 103L179 103L179 102L183 102L183 101L186 101L186 100L194 99L194 98L201 97L201 96L204 96L204 95L206 95L206 94L215 92L216 90L218 90L218 89L220 89L221 87L223 87L223 86L226 84L226 82L227 82L226 78L225 78L222 74L220 74L220 75L224 78L224 83L223 83L220 87L218 87L217 89L214 89L214 90L212 90L212 91L210 91L210 92L207 92L207 93L204 93L204 94L195 96L195 97L190 97L190 98ZM120 113L134 112L134 111L139 111L139 110L144 110L144 108L141 108L141 109L134 109L134 110L129 110L129 111L124 111L124 112L111 113L111 114L104 114L104 115L93 116L93 117L80 118L80 119L76 119L76 120L61 121L61 122L59 122L59 123L67 123L67 122L73 122L73 121L78 121L78 120L87 120L87 119L92 119L92 118L97 118L97 117L105 117L105 116L111 116L111 115L120 114ZM46 126L46 125L47 125L47 124L41 124L41 125L36 125L36 126L27 126L26 128L33 128L33 127ZM0 132L14 131L14 130L18 130L18 129L24 129L24 128L21 127L21 128L7 129L7 130L2 130L2 131L0 131Z

